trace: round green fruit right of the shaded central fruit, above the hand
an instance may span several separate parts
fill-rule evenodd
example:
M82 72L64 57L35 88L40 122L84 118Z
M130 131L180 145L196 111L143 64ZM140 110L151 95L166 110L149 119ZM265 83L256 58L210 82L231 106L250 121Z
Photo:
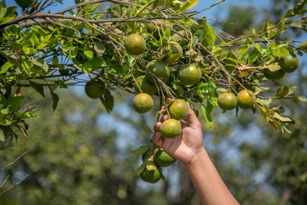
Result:
M186 64L179 70L179 80L184 85L194 85L202 78L202 71L195 64Z

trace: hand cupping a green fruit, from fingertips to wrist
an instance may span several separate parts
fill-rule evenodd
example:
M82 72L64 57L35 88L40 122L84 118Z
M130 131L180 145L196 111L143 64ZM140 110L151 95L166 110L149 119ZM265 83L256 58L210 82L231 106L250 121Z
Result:
M166 110L163 114L166 114ZM169 116L164 115L159 122L154 124L153 130L155 133L153 134L153 143L187 165L195 155L204 149L201 123L197 119L194 111L190 108L189 115L187 116L188 123L183 120L179 121L182 128L179 137L167 139L161 137L159 129L162 122L168 119Z

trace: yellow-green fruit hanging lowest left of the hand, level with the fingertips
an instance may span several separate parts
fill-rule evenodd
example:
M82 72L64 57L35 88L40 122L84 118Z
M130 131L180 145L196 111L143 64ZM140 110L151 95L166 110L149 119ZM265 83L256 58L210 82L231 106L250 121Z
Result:
M153 108L153 98L147 93L140 93L133 99L133 108L138 113L145 113Z

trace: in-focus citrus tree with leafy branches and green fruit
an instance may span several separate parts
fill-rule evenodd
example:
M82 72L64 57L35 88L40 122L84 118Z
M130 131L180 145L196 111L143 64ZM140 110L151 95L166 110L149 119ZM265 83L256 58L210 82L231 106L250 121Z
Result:
M75 1L51 13L46 11L61 0L25 0L29 6L22 14L16 13L16 6L7 7L5 0L0 2L1 149L20 134L27 139L26 119L38 117L34 106L25 105L22 91L28 87L43 97L48 90L53 110L59 101L56 90L73 85L85 85L85 93L99 98L108 112L118 89L150 92L166 109L176 99L190 102L197 115L201 110L208 126L222 93L236 96L245 91L254 113L282 132L295 122L282 114L282 106L270 104L279 99L307 101L294 94L295 85L283 85L281 75L275 80L276 72L287 75L302 69L297 55L307 52L307 41L279 37L290 27L307 31L307 0L293 5L278 24L265 23L240 37L211 26L208 20L214 19L196 18L224 0L202 11L194 11L198 0ZM101 9L105 1L109 6ZM273 86L267 84L272 80ZM153 88L147 91L149 86ZM240 105L234 107L238 112ZM158 105L154 109L158 111ZM132 152L151 153L138 174L156 170L154 150L151 144Z

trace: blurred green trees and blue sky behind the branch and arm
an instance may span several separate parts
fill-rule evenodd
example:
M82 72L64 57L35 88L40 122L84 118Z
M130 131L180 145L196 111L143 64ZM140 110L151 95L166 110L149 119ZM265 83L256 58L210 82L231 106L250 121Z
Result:
M295 0L226 0L205 10L199 18L218 19L209 24L240 36L261 28L264 22L276 24ZM16 5L6 0L8 6ZM73 5L63 0L51 12ZM215 3L201 0L197 10ZM102 4L102 9L107 7ZM21 9L17 10L20 14ZM307 40L296 29L283 39ZM296 43L294 43L296 44ZM307 96L306 55L300 57L299 69L279 82L297 86L297 95ZM87 78L84 76L84 78ZM268 84L268 86L273 84ZM187 172L180 162L164 168L165 181L148 184L136 176L139 156L129 151L148 144L152 135L142 129L152 128L158 107L143 115L133 111L131 94L115 95L115 105L107 113L99 100L84 94L84 87L58 89L60 101L52 112L51 100L22 90L27 106L39 103L39 119L28 121L29 141L22 137L16 145L0 150L0 167L12 162L34 142L33 149L9 169L0 173L0 188L7 189L17 180L29 176L0 196L1 205L200 205ZM154 99L158 102L158 99ZM203 125L204 146L231 193L242 205L306 205L307 203L307 103L276 101L293 116L292 133L280 133L251 110L222 114L212 113L213 126ZM155 103L159 104L159 103ZM205 176L204 176L205 177Z

